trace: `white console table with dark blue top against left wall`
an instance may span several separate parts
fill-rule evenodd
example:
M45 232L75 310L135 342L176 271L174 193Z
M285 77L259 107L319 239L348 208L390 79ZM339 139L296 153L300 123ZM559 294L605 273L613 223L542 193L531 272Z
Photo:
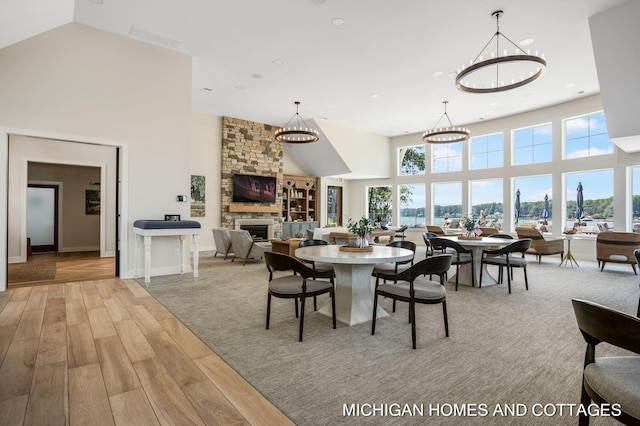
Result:
M149 287L151 282L151 238L176 236L180 240L180 273L184 273L184 238L191 235L193 239L193 279L198 278L198 235L200 223L193 220L136 220L133 223L135 234L134 275L138 276L138 245L140 238L144 238L144 284Z

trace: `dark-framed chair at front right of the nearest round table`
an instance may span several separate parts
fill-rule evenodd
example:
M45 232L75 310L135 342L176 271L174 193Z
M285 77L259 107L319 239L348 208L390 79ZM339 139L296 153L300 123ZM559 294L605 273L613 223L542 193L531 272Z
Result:
M409 322L411 323L411 340L413 349L416 348L416 303L442 303L444 315L445 335L449 337L449 322L447 319L447 290L444 286L444 275L451 267L451 255L433 256L423 259L407 270L398 274L378 273L376 277L375 294L373 298L373 319L371 334L376 333L376 314L378 296L389 297L394 301L409 303ZM439 282L423 279L426 274L438 275ZM383 283L381 284L381 280ZM394 284L384 283L391 281Z

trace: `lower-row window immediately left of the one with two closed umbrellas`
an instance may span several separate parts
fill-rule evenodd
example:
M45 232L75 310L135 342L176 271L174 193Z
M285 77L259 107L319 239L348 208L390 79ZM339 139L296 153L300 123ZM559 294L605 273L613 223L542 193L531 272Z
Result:
M502 223L504 216L502 179L472 180L471 211L468 212L476 220L481 220L480 226L493 226Z

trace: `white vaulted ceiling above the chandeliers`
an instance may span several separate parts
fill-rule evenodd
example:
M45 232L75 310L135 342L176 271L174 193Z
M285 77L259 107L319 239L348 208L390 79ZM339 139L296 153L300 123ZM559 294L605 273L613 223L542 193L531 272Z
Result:
M598 93L588 18L623 2L3 0L0 48L71 21L154 36L193 56L194 111L284 125L300 101L305 119L397 136L433 127L444 100L465 125ZM504 93L460 92L448 74L489 41L498 9L506 36L535 40L546 73Z

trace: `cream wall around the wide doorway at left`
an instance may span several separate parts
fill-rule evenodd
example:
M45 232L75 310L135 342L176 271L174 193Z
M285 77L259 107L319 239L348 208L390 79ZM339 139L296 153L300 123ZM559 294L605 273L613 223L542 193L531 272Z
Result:
M0 75L0 160L16 133L122 147L121 275L132 276L133 221L189 216L176 195L190 192L191 57L71 23L0 50ZM7 185L1 176L0 199ZM174 247L158 238L152 269L178 271Z

